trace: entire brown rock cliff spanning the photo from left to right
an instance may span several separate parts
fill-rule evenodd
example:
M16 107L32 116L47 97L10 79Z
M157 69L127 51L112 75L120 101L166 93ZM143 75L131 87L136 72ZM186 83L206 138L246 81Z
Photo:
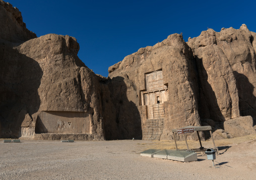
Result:
M37 38L2 0L0 26L1 138L172 139L187 125L211 125L218 138L255 133L256 33L245 25L188 42L170 35L108 78L79 59L75 38Z

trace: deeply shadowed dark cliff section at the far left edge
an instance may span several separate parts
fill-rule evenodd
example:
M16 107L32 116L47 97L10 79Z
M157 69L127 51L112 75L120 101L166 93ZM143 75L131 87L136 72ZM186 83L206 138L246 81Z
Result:
M0 137L19 137L22 122L30 126L29 114L40 104L37 88L42 71L37 62L13 47L36 35L26 29L19 10L4 1L0 1L0 26Z

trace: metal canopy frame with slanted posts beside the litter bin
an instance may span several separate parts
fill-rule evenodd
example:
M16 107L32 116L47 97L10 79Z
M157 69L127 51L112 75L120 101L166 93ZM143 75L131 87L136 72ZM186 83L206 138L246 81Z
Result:
M199 136L199 132L198 131L206 131L206 130L209 130L210 131L210 134L211 134L211 137L212 137L212 140L213 140L213 145L214 145L214 150L217 151L217 153L219 154L219 149L218 147L216 147L215 145L215 142L214 142L214 139L213 139L213 133L212 133L212 127L211 126L186 126L186 127L183 127L183 128L180 128L180 129L172 129L172 133L173 133L173 137L174 137L174 141L175 141L175 146L176 146L176 150L178 150L178 147L177 147L177 143L176 143L176 138L175 138L175 134L174 133L177 133L177 131L180 131L180 130L188 130L188 129L193 129L193 132L197 131L197 134L198 134L198 139L199 139L199 142L200 142L200 148L199 149L191 149L191 150L198 150L198 151L205 151L207 148L204 148L202 146L202 142L201 142L201 139L200 139L200 136ZM191 132L185 132L185 133L182 133L183 136L184 136L184 139L185 139L185 142L186 142L186 147L187 147L187 150L190 150L189 147L188 147L188 144L187 144L187 141L186 141L186 136L187 134L186 133L191 133Z

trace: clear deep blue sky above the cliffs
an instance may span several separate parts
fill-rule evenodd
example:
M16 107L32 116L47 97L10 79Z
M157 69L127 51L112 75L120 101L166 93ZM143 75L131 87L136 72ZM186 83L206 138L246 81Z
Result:
M242 24L256 32L254 0L5 1L21 11L37 37L49 33L75 37L79 58L105 77L109 66L170 34L182 33L187 41L208 28L219 32Z

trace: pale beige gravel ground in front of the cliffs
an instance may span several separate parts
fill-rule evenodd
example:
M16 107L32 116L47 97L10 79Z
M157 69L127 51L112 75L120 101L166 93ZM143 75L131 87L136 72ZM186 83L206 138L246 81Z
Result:
M256 141L220 147L212 161L140 156L145 140L0 142L0 179L256 179Z

